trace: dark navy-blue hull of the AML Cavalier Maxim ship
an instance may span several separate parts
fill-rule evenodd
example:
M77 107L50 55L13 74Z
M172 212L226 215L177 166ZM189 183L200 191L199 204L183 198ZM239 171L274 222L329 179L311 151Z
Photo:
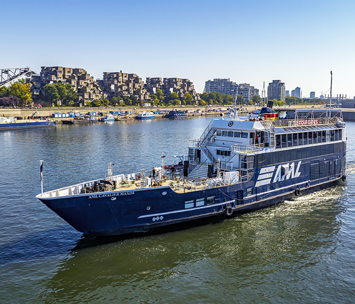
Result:
M231 216L276 205L326 188L345 178L345 157L342 152L327 156L334 167L334 174L316 178L312 176L311 164L324 161L315 157L299 163L295 176L276 183L258 185L262 169L255 168L254 176L245 181L226 186L177 193L169 186L113 191L67 196L62 198L38 198L76 230L91 235L121 235L145 231L179 222L187 222L211 216ZM271 172L271 170L269 170ZM299 172L299 176L297 176ZM260 180L260 178L259 178ZM253 192L250 189L253 188Z

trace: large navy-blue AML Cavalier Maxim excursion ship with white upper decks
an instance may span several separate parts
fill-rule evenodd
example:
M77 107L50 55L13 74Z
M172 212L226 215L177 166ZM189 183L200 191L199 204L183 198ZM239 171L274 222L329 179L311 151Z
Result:
M164 166L163 156L154 170L113 176L109 166L107 178L37 198L76 230L104 236L230 217L345 180L341 110L262 112L253 121L223 114L211 120L178 166Z

